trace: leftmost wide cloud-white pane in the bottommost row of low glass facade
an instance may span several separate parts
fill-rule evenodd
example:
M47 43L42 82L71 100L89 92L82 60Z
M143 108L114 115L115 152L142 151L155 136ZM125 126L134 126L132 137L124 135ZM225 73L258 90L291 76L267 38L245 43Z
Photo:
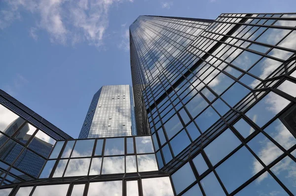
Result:
M37 186L32 196L66 196L69 184Z

